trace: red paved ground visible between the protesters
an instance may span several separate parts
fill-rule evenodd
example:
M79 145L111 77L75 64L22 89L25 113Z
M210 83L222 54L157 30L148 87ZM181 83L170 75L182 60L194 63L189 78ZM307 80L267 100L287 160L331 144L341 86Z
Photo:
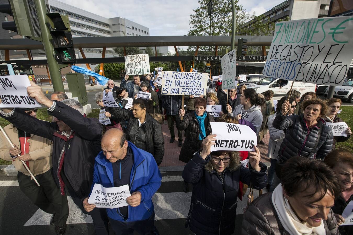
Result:
M167 124L162 125L162 131L164 136L164 156L160 166L184 166L185 163L178 160L181 147L178 147L178 131L177 131L177 128L175 127L175 123L174 123L174 133L177 137L175 137L174 143L172 144L169 143L170 133L169 133ZM183 131L183 134L184 134L184 131ZM183 141L184 140L185 140L185 137L183 136ZM263 141L265 142L265 145L258 144L257 146L260 149L262 162L270 161L269 158L266 156L267 149L268 149L268 140L269 140L269 134L267 134L263 139Z

